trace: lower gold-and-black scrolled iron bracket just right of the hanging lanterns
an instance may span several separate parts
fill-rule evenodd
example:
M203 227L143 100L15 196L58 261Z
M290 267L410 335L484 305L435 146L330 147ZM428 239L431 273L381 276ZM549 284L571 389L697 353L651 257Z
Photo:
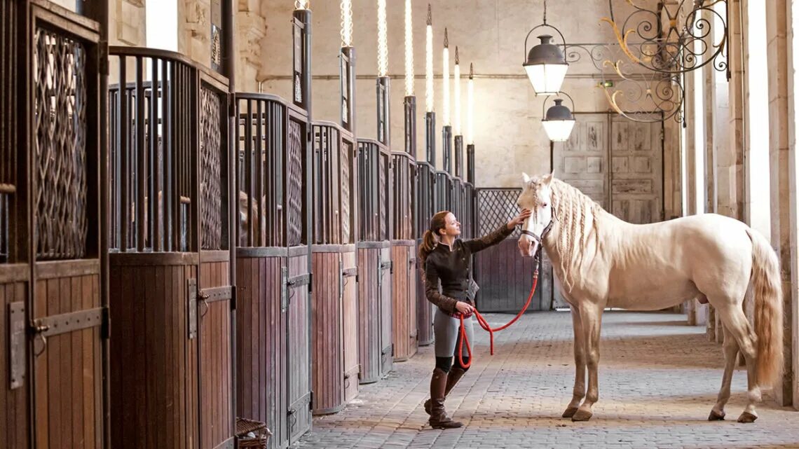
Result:
M616 113L630 121L655 122L673 118L682 122L685 91L679 74L632 70L617 43L582 43L566 47L566 62L583 58L601 74L598 87Z

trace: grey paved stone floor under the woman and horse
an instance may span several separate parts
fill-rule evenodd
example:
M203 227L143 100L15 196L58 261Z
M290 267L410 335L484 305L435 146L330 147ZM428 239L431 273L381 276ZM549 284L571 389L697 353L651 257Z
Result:
M488 316L492 326L511 316ZM499 332L495 355L479 330L475 363L447 399L464 427L427 425L434 366L431 347L360 395L336 415L317 417L294 447L799 447L799 412L767 395L753 424L735 422L745 403L745 372L733 375L728 419L706 421L721 384L721 347L704 328L666 313L606 312L599 402L587 423L560 418L574 381L568 312L524 316Z

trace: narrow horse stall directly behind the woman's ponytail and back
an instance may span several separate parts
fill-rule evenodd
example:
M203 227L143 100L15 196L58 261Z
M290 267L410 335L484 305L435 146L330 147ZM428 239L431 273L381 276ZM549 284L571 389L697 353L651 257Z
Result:
M416 194L415 199L415 238L417 244L422 244L422 236L427 228L430 227L430 219L436 212L435 205L435 169L427 161L416 162ZM422 277L422 266L417 264L416 273L416 328L418 335L416 338L419 346L427 346L433 343L433 311L434 307L427 300L424 292L424 280Z

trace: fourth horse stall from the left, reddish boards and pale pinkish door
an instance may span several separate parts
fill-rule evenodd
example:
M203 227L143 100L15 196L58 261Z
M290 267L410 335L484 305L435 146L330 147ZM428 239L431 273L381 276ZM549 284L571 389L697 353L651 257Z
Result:
M312 387L314 415L358 394L356 147L352 134L313 123Z

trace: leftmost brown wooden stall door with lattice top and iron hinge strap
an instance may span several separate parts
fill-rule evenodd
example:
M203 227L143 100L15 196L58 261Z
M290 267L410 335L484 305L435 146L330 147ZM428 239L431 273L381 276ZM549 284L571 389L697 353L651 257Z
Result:
M34 447L102 447L99 26L31 5ZM0 441L4 441L0 435Z

